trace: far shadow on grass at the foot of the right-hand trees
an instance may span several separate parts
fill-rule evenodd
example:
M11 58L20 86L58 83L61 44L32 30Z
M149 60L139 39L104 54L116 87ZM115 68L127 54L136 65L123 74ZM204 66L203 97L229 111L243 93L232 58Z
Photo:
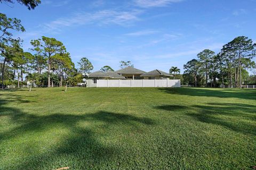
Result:
M219 97L219 98L239 98L256 100L255 89L219 89L211 90L207 88L158 88L167 94L177 94L198 97Z

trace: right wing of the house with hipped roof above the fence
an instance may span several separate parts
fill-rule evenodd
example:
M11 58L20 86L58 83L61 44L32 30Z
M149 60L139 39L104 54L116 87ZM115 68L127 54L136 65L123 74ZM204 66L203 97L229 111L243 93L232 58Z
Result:
M144 74L141 74L140 77L143 77L145 80L154 80L154 79L170 79L173 75L166 73L161 70L153 70Z

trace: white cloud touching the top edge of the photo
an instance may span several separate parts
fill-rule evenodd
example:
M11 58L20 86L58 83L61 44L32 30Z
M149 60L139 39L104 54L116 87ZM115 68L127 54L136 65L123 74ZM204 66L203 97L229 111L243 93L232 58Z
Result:
M171 3L181 2L183 0L134 0L135 4L140 7L159 7Z

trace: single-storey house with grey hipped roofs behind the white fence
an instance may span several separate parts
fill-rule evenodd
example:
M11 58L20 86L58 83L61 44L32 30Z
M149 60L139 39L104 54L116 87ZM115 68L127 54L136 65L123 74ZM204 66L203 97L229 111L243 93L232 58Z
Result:
M95 71L89 73L87 78L87 87L97 87L97 80L154 80L154 79L169 79L173 77L169 73L161 70L153 70L150 72L145 72L133 67L125 67L117 71Z

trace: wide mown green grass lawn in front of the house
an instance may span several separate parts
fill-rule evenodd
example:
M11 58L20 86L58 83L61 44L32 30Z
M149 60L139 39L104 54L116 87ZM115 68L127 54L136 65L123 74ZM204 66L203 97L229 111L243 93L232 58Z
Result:
M251 169L256 90L0 91L0 169Z

